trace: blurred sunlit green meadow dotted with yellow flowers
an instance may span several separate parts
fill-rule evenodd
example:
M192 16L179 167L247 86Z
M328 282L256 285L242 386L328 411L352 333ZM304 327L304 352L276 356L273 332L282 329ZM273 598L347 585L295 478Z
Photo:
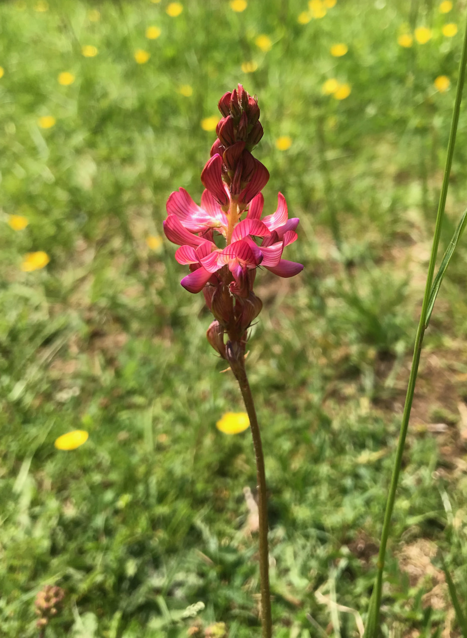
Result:
M365 619L454 101L466 3L0 4L0 635L260 634L255 466L202 295L163 235L199 202L217 101L256 94L256 156L298 216L248 343L277 638ZM461 110L440 255L467 206ZM460 635L467 603L467 249L424 339L382 635ZM84 430L75 450L54 441ZM64 592L37 627L34 601Z

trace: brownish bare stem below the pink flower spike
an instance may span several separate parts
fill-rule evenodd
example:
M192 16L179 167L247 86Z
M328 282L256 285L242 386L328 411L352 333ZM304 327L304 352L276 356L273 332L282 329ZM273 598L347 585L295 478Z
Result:
M271 592L269 590L269 556L268 556L268 500L266 495L266 474L264 473L264 457L262 455L261 433L256 417L253 395L248 383L243 352L230 360L231 369L240 385L241 396L247 408L253 446L256 458L256 476L258 490L259 515L259 576L261 581L261 625L262 638L271 638L273 623L271 618Z

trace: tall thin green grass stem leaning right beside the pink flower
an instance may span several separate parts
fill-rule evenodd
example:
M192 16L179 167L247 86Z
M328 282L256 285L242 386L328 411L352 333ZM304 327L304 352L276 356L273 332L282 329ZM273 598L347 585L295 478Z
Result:
M454 144L456 143L457 123L459 122L459 110L461 107L462 91L464 86L464 73L467 62L467 24L464 32L464 43L462 49L461 62L459 64L459 79L457 81L456 100L454 102L454 110L452 112L451 128L449 133L449 142L447 146L447 159L443 176L443 184L440 193L440 202L438 204L438 212L436 214L435 235L433 237L433 245L431 246L431 255L428 265L428 274L426 278L425 292L422 302L422 311L420 313L420 322L415 336L415 346L413 348L412 368L408 380L407 394L405 398L404 412L402 415L401 429L399 433L398 448L396 451L396 459L394 461L394 469L392 470L391 486L389 487L389 496L387 498L386 510L384 514L383 530L381 535L380 550L378 553L378 573L375 579L373 594L371 595L370 611L368 614L367 628L369 632L365 632L365 636L377 637L379 625L379 613L381 605L381 590L383 582L383 570L387 539L389 537L389 528L391 527L391 516L394 508L394 500L396 498L396 488L398 485L399 473L401 471L402 455L404 451L405 438L408 429L408 421L410 419L410 410L412 409L413 392L415 391L415 381L417 379L417 371L419 369L420 353L422 352L422 341L425 333L426 313L429 302L431 285L433 283L433 274L435 272L436 255L438 253L438 244L440 242L441 226L446 205L447 189L449 186L449 175L452 165L452 156L454 154Z

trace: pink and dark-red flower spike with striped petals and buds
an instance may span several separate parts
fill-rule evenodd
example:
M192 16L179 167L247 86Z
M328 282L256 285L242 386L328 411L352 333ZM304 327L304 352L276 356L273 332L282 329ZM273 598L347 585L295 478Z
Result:
M303 265L282 259L285 246L297 239L299 222L298 218L289 219L282 193L278 194L277 210L262 217L261 189L269 173L252 156L263 133L256 98L239 84L238 89L220 98L219 110L222 118L216 128L217 140L201 173L205 186L201 206L183 188L171 193L164 232L180 246L175 253L177 262L190 268L180 283L189 292L202 290L215 317L208 340L224 359L230 359L232 344L240 344L238 352L245 349L246 330L262 308L261 299L253 292L257 267L292 277ZM222 248L215 241L219 236L225 240ZM224 334L228 336L227 347Z

